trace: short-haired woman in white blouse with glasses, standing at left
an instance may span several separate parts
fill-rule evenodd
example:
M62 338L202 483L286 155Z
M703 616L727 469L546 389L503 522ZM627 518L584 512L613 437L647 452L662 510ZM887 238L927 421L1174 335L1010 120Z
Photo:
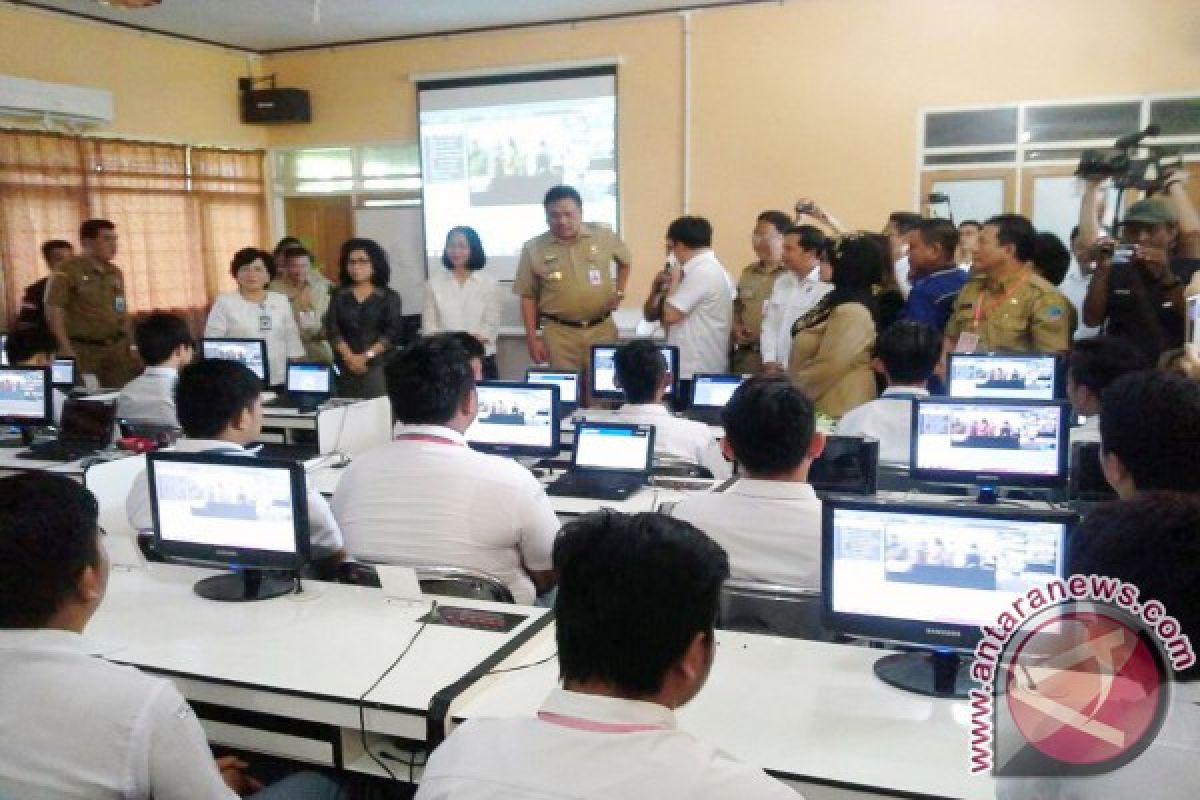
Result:
M304 342L287 295L266 290L275 277L271 254L257 247L244 247L234 253L229 271L238 282L238 290L217 296L204 325L204 337L265 341L270 369L266 383L282 386L288 374L288 359L304 359Z

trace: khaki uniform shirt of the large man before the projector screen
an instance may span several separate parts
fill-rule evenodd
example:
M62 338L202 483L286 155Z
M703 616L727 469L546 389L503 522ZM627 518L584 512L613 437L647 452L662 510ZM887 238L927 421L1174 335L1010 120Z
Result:
M534 297L538 311L572 321L608 313L617 291L612 261L629 264L629 247L605 225L583 223L572 242L546 231L521 248L512 293Z

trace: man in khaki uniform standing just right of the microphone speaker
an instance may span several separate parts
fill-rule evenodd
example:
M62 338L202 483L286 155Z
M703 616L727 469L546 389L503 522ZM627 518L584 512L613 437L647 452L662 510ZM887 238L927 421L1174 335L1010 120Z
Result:
M791 218L782 211L758 215L750 236L758 260L742 270L738 296L733 301L732 372L754 374L762 369L762 317L775 289L775 278L784 273L784 234L791 227Z

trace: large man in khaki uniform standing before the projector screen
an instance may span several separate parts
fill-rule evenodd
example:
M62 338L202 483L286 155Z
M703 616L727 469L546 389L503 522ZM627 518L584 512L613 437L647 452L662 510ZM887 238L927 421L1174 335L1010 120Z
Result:
M550 230L524 243L512 291L521 297L529 357L583 369L592 344L617 341L612 312L625 296L629 247L608 228L583 222L583 200L570 186L546 192L542 205Z

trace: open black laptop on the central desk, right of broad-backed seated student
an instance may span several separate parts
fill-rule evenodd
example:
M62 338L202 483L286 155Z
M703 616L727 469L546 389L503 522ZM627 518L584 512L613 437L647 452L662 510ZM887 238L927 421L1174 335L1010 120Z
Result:
M580 422L571 468L546 487L547 494L624 500L646 486L654 464L654 426Z

